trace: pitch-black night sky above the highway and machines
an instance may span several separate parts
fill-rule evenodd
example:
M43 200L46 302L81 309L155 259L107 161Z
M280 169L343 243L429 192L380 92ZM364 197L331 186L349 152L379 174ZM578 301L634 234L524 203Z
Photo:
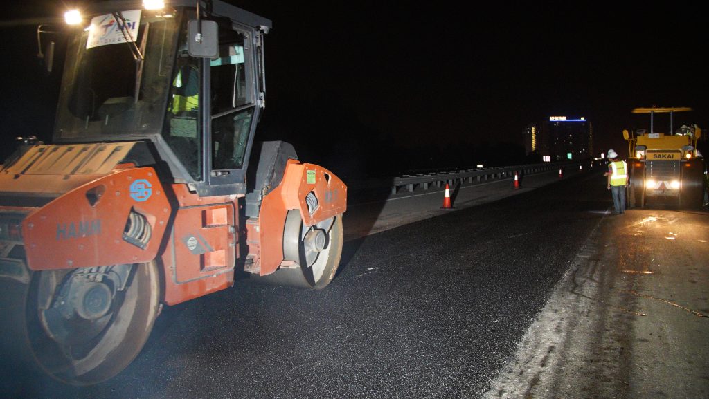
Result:
M623 128L649 128L647 116L630 113L639 106L694 108L675 128L697 123L709 133L699 2L230 3L274 25L257 140L293 142L301 159L347 176L524 162L523 128L548 116L591 120L596 156L627 152ZM62 16L64 4L2 8L7 24ZM0 29L4 142L48 140L53 122L58 79L41 72L35 29ZM664 119L656 130L667 130Z

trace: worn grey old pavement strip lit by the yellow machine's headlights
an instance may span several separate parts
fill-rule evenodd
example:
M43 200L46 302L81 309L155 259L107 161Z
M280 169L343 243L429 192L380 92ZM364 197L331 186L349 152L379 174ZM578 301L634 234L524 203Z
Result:
M709 398L709 213L610 216L487 399Z

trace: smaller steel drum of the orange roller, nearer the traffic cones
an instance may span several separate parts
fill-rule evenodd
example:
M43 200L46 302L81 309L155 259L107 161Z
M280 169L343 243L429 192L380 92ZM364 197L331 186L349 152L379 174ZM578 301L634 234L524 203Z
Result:
M326 232L323 230L326 236L325 247L317 254L316 259L308 261L303 237L308 232L317 230L318 225L311 227L303 225L298 210L290 210L286 215L284 257L285 260L296 262L296 266L281 267L267 276L252 275L251 279L258 283L314 290L328 286L335 278L342 257L342 215L336 215L333 218L332 225L330 223L318 224L330 225Z

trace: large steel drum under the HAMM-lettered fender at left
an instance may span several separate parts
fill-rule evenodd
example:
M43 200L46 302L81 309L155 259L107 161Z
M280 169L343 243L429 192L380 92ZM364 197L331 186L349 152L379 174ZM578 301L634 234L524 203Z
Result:
M77 271L90 269L35 272L26 303L27 337L35 361L53 378L77 386L100 383L123 371L143 349L160 306L160 273L155 262L116 267L129 268L125 288L107 294L108 304L99 300L105 309L92 320L74 308L72 315L57 316L57 306L48 306L67 298L61 297L62 287ZM89 294L82 298L79 302L91 302Z

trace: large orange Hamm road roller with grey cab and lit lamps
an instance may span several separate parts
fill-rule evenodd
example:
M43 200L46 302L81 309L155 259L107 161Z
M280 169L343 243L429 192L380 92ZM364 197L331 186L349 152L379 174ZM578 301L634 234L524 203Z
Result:
M163 305L236 273L327 286L347 186L286 142L254 141L271 21L218 0L66 17L52 144L21 145L0 169L6 366L99 383L138 355Z

